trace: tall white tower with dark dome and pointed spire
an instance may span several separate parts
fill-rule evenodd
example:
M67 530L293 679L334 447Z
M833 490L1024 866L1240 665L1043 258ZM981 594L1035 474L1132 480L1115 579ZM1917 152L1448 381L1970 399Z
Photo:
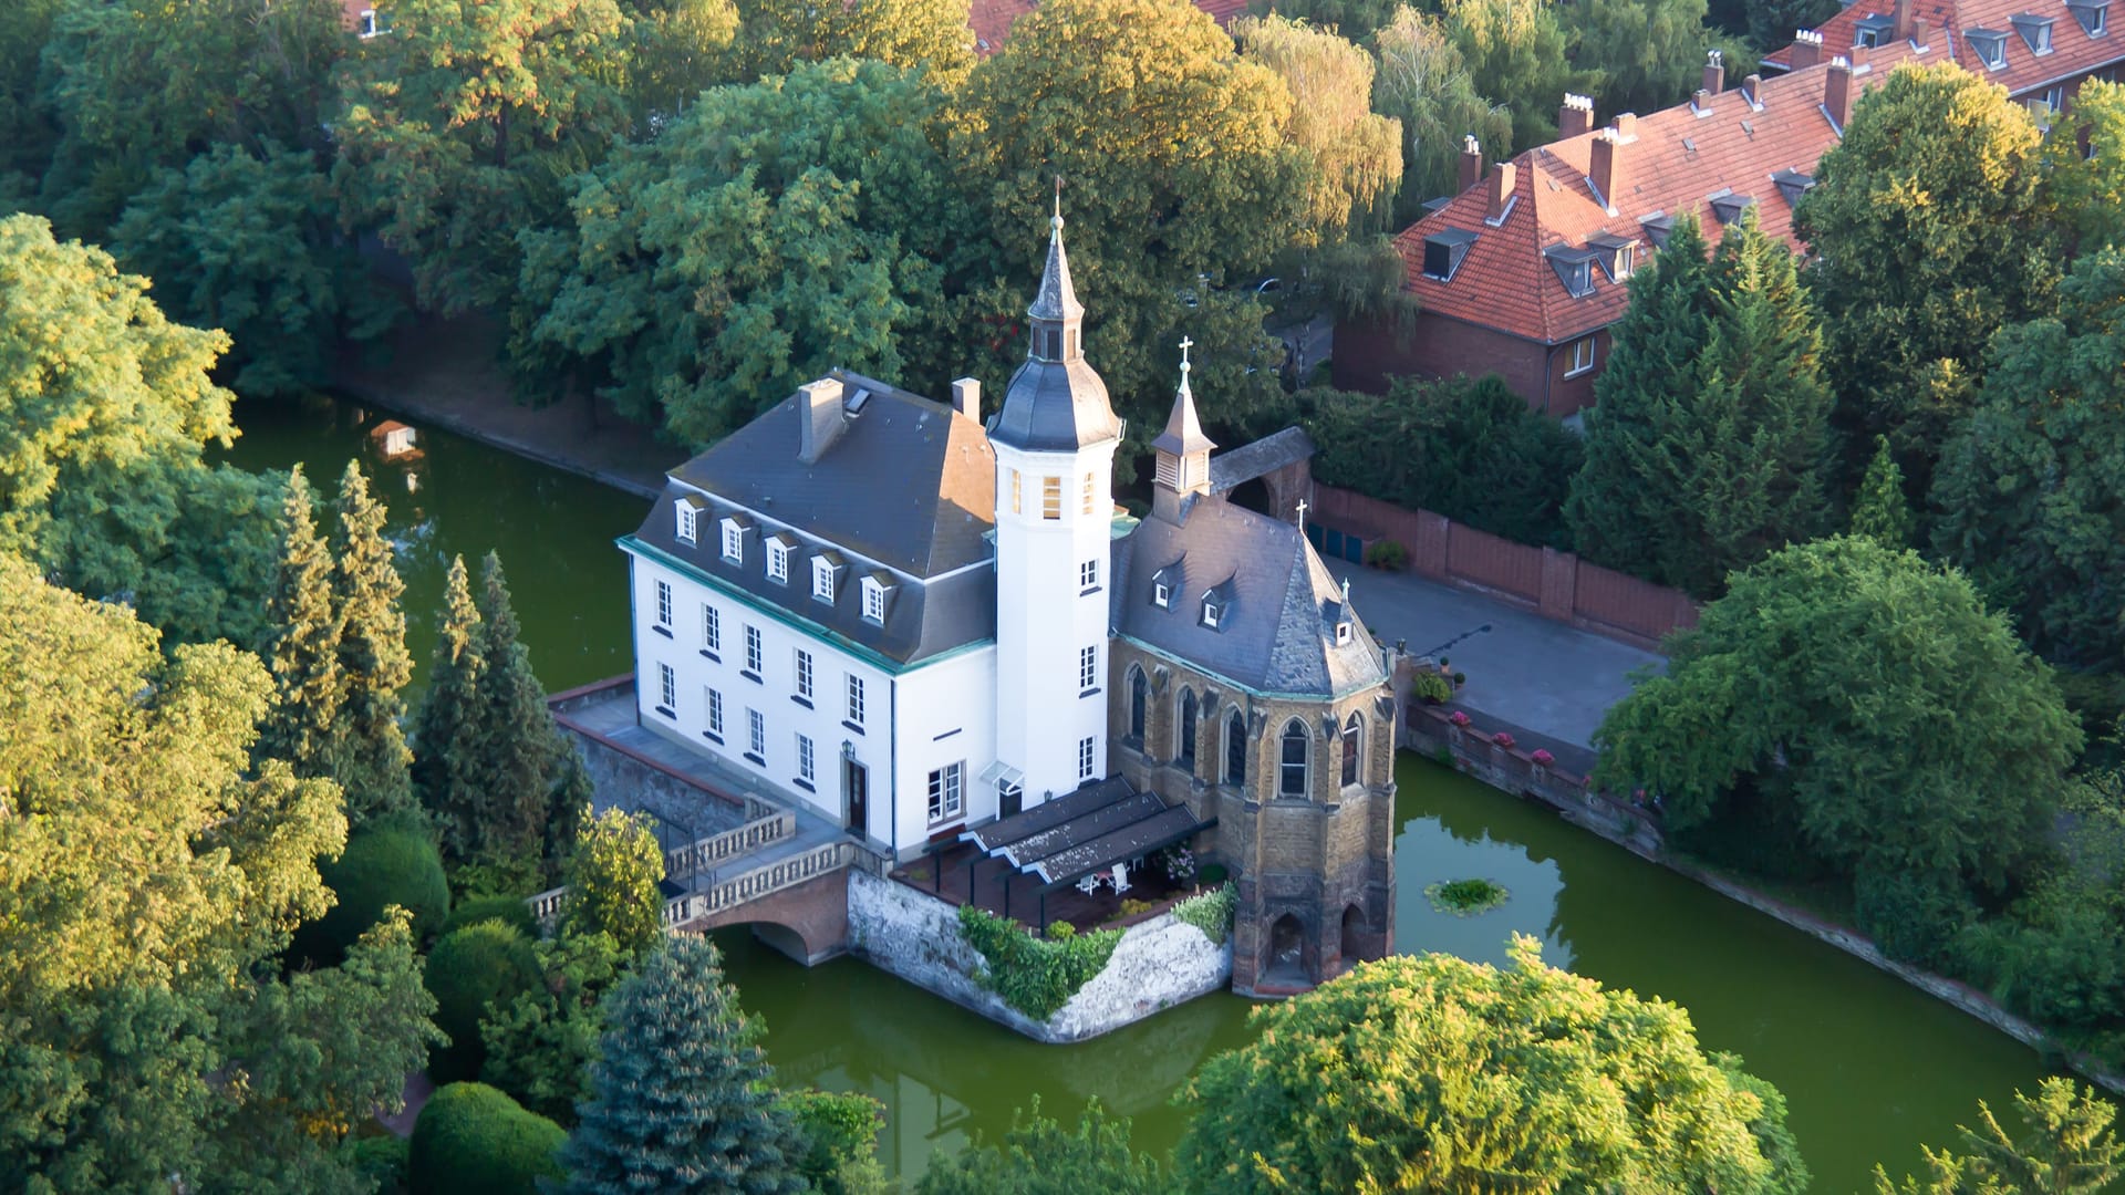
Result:
M1084 306L1048 234L1033 344L988 427L997 451L997 763L1003 812L1107 774L1107 600L1122 421L1084 359ZM1016 789L1016 791L1014 791Z

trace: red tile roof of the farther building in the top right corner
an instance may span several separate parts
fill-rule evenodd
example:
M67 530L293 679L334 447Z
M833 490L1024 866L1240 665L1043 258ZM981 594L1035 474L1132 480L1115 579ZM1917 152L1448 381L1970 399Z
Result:
M2089 34L2066 0L1915 0L1912 15L1925 21L1925 40L1932 51L1946 55L1978 79L2004 85L2017 98L2040 96L2046 87L2125 62L2125 32L2114 28L2125 15L2106 15L2104 32ZM2046 53L2032 51L2029 40L2017 30L2014 17L2048 19L2051 49ZM1887 36L1893 36L1893 0L1857 0L1823 21L1823 28L1817 30L1823 36L1823 55L1864 53L1855 49L1862 21L1887 21L1891 23ZM1978 47L1970 40L1970 30L2006 34L2002 66L1985 64ZM1783 70L1791 62L1794 47L1785 47L1766 57L1764 66Z

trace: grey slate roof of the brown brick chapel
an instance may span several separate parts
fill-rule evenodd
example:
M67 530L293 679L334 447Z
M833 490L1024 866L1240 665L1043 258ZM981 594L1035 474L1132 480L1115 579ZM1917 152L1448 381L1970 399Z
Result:
M1343 591L1298 527L1224 498L1198 498L1179 519L1145 519L1116 546L1116 634L1256 693L1334 697L1386 678L1354 612L1337 644ZM1160 570L1171 608L1152 602ZM1216 629L1203 625L1209 589L1226 600Z

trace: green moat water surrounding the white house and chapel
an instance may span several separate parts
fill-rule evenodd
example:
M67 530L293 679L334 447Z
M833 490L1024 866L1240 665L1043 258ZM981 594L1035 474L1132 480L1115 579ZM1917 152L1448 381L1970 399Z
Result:
M421 464L382 466L346 404L244 404L238 419L246 434L227 457L242 466L304 461L329 489L346 457L370 464L402 544L423 668L450 555L474 561L493 546L550 689L629 670L625 563L612 538L640 523L640 500L425 430ZM1742 1055L1785 1091L1817 1191L1872 1189L1876 1161L1915 1167L1919 1142L1949 1144L1978 1099L2002 1108L2046 1074L1978 1021L1543 808L1409 755L1398 780L1400 950L1502 961L1522 931L1545 942L1551 963L1681 1004L1706 1048ZM1424 899L1426 885L1470 876L1504 885L1511 899L1479 916ZM1250 1004L1216 995L1096 1042L1041 1046L852 959L805 970L742 929L718 940L744 1006L767 1021L784 1082L882 1099L882 1157L907 1178L975 1131L1001 1133L1033 1099L1073 1116L1096 1095L1137 1121L1141 1146L1162 1150L1182 1131L1173 1091L1250 1038Z

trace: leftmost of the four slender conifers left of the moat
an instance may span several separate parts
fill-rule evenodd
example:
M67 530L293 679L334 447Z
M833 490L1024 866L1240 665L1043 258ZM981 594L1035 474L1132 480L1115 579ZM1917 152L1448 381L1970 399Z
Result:
M295 776L329 774L332 725L344 700L340 627L332 612L332 553L317 536L310 483L287 474L280 500L280 559L266 598L259 646L274 678L274 710L259 736L261 759L285 759Z

